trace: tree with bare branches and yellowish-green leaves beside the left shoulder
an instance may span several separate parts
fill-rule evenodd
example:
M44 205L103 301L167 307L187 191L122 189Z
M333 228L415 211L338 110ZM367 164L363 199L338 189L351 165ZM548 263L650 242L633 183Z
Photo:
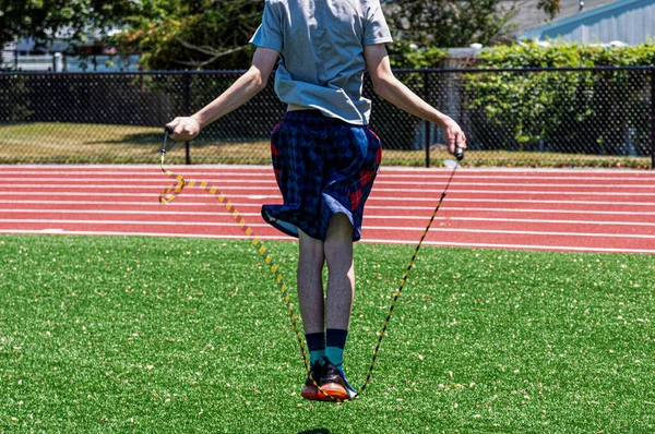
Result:
M121 51L142 53L146 70L242 69L262 17L261 0L159 0L156 13L129 17L115 38Z

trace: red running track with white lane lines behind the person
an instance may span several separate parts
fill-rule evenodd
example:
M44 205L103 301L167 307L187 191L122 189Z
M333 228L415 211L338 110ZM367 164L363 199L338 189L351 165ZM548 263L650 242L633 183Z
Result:
M263 240L288 240L260 217L279 203L273 171L257 166L170 168L217 185ZM416 244L451 169L383 167L362 241ZM169 205L152 166L0 166L0 233L245 238L207 193ZM455 173L425 245L655 253L655 171L468 169Z

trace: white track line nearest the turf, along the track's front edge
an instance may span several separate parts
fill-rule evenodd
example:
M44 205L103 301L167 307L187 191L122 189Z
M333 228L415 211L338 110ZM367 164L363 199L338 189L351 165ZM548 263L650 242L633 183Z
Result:
M112 237L157 237L157 238L206 238L218 240L248 240L246 236L213 236L205 233L158 233L158 232L121 232L121 231L64 231L57 229L45 230L3 230L4 233L15 234L63 234L63 236L112 236ZM284 236L264 236L258 237L260 240L275 241L296 241L290 237ZM416 240L361 240L365 244L407 244L416 245ZM581 246L560 246L560 245L538 245L538 244L493 244L493 243L464 243L464 242L441 242L424 241L424 245L446 246L446 248L467 248L467 249L510 249L510 250L545 250L555 252L602 252L602 253L643 253L654 254L655 250L650 249L607 249L607 248L581 248Z

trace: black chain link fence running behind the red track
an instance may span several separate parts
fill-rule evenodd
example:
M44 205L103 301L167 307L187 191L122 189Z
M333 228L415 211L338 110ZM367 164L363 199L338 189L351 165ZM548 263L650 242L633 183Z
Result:
M157 162L163 125L242 72L1 73L0 162ZM655 167L655 67L398 70L466 132L468 166ZM273 79L272 79L273 80ZM377 97L383 164L440 166L439 128ZM270 164L285 106L273 85L167 154L171 164Z

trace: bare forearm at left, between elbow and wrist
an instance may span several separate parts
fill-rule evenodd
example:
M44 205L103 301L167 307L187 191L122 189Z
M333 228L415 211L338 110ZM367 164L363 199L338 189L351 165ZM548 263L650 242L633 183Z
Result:
M266 83L263 82L261 72L255 67L251 67L227 91L195 112L192 118L198 121L201 129L204 129L216 119L248 103L265 85Z

